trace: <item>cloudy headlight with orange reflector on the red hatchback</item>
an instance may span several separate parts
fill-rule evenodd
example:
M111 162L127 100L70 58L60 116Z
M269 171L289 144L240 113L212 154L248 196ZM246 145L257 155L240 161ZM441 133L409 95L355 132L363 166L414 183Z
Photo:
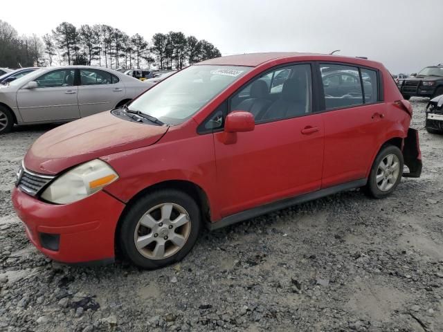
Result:
M57 178L41 197L51 203L73 203L91 196L117 179L118 174L114 169L104 161L94 159Z

